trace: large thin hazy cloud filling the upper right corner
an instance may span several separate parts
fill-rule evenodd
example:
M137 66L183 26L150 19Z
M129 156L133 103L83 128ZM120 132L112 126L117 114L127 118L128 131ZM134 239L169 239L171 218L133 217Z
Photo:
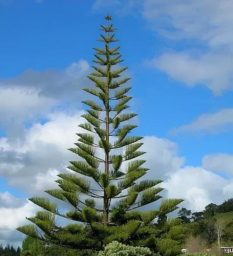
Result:
M187 85L204 84L215 95L233 90L232 11L231 0L145 0L142 14L150 29L187 41L185 50L165 52L151 65Z

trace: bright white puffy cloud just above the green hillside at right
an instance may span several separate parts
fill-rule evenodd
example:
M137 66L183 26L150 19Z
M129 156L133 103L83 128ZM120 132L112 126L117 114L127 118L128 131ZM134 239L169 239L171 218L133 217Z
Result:
M184 199L183 205L193 211L202 211L211 202L222 203L231 197L224 188L230 183L201 167L186 166L170 175L164 182L168 197Z

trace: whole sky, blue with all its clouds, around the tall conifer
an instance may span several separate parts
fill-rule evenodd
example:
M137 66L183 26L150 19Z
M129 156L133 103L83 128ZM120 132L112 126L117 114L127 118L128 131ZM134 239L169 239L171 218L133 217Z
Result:
M203 175L210 184L210 179L218 182L221 187L214 192L211 186L191 182L183 194L175 194L185 197L187 207L195 210L231 197L233 38L226 35L233 19L226 10L233 4L226 2L110 0L106 6L103 0L0 0L0 192L4 200L10 193L26 205L26 197L45 188L38 185L43 175L52 182L56 172L64 169L69 153L57 165L55 160L72 139L59 144L57 136L65 140L63 136L76 129L71 127L75 118L79 122L80 102L86 96L81 89L89 83L85 76L94 58L92 47L98 45L99 24L108 13L118 28L123 65L132 77L131 106L139 125L135 133L146 136L145 149L151 151L148 162L158 168L164 186L171 187L172 193L178 185L175 178L183 172L186 180ZM197 9L199 13L193 11ZM51 132L50 137L44 132ZM49 147L56 157L49 156L51 163L46 159L45 164L44 151ZM4 200L0 200L3 206Z

